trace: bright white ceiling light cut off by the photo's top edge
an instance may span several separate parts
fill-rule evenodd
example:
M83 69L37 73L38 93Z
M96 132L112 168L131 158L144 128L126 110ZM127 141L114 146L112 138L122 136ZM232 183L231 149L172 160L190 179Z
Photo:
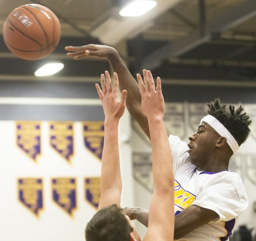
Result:
M123 8L119 14L124 17L141 16L156 6L156 1L136 0Z

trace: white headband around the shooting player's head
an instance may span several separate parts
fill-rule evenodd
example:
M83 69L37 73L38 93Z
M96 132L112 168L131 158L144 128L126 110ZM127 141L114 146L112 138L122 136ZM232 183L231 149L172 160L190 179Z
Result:
M212 128L214 128L214 130L216 130L216 132L218 132L220 136L226 137L227 143L234 154L238 151L239 146L234 136L232 136L232 134L230 134L226 127L221 124L215 117L213 117L212 115L206 115L201 121L204 121L212 126Z

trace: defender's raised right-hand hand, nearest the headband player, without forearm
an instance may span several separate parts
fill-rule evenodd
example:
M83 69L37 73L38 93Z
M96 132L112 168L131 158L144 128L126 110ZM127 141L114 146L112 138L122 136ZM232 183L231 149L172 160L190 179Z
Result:
M143 70L144 83L140 74L137 74L137 79L140 87L142 98L142 110L148 117L163 118L164 117L164 97L162 95L161 79L157 77L156 87L154 79L149 70Z

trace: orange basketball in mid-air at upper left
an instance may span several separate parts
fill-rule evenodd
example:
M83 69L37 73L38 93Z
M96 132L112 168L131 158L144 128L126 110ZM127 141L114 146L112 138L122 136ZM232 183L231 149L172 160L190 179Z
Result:
M60 21L42 5L22 5L6 18L3 36L6 46L17 57L42 59L52 53L60 41Z

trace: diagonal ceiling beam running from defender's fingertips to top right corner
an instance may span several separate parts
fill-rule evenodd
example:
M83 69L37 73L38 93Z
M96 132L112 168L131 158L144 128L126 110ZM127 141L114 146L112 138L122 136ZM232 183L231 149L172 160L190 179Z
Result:
M222 32L237 26L254 16L256 16L255 0L249 0L240 4L236 8L215 18L212 22L206 23L203 36L200 36L202 29L201 26L198 26L192 33L184 37L183 40L169 43L161 49L147 55L142 59L140 69L138 69L137 72L142 71L142 69L153 70L161 64L163 59L180 56L202 43L209 41L212 38L213 33Z

